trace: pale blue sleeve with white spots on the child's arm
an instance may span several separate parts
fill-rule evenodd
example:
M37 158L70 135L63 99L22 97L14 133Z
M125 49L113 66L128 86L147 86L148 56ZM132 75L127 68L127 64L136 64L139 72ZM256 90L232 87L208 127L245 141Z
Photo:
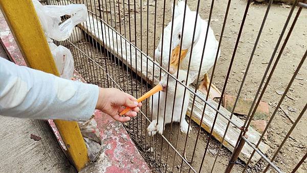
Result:
M87 120L93 115L98 93L97 85L62 79L0 57L2 116Z

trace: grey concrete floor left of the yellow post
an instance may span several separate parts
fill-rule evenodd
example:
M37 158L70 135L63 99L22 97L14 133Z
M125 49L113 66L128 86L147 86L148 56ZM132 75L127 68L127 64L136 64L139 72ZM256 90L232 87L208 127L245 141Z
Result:
M0 44L0 56L7 59ZM40 141L30 139L34 134ZM46 121L0 115L0 172L76 172Z

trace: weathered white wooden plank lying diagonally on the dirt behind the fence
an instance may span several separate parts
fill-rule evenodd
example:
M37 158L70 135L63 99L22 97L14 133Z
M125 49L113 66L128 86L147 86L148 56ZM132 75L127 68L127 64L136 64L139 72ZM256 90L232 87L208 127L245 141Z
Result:
M97 20L95 17L90 17L86 21L87 27L84 24L80 24L79 27L85 31L85 33L92 36L97 42L100 42L100 44L105 47L108 51L113 53L116 57L118 57L120 60L123 61L129 68L137 73L139 76L141 76L144 80L147 80L148 83L155 85L159 81L159 75L160 75L160 68L157 67L157 65L154 65L151 61L152 58L144 56L139 50L136 50L133 46L131 46L130 49L130 43L126 41L124 38L121 37L120 34L117 34L112 28L108 27L104 23L102 23L101 27L101 21ZM103 33L103 39L102 39L102 33ZM141 71L141 67L143 71ZM148 69L148 76L146 76L146 69ZM154 75L153 75L154 74ZM194 87L189 87L192 91L195 90ZM197 92L202 98L206 98L204 94L201 92ZM192 107L192 101L193 98L189 101L188 111L187 115L192 116L192 120L195 121L198 124L201 124L202 127L207 131L210 132L213 124L213 120L216 114L216 111L212 109L209 105L206 106L205 110L205 116L203 119L203 122L200 123L203 109L204 109L204 101L202 99L196 97L194 102L194 108L193 112L191 113L191 107ZM218 103L215 101L209 99L209 104L213 107L217 107ZM230 112L227 111L223 106L221 106L219 110L223 115L230 116ZM239 126L242 126L244 122L233 115L232 120L238 124ZM222 138L225 133L225 129L227 126L228 120L224 118L221 115L218 115L214 129L213 129L213 136L218 140L222 141ZM233 124L230 124L227 135L225 137L225 140L223 142L223 145L226 146L230 151L233 151L234 145L236 143L236 140L240 134L240 129L233 127ZM252 127L249 128L249 132L247 133L248 139L256 144L259 140L260 134L255 131ZM262 153L266 153L269 149L269 146L263 142L260 143L259 149ZM243 160L244 162L247 162L249 159L251 153L253 151L253 148L250 147L248 144L245 144L242 150L242 153L239 155L239 158ZM254 157L251 160L251 165L254 165L261 156L259 154L255 154Z

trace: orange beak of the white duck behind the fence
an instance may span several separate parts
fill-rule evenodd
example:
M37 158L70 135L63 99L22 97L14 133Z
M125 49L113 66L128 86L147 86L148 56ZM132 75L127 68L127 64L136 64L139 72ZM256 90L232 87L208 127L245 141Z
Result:
M171 57L170 57L170 65L169 65L169 73L170 74L174 74L177 71L179 60L180 60L180 63L181 63L181 61L185 58L187 53L188 53L187 49L181 50L181 52L180 52L180 46L179 45L175 49L172 50Z

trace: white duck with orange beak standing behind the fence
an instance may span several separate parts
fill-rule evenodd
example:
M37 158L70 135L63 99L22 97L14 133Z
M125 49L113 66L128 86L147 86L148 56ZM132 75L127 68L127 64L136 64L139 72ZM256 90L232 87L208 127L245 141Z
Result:
M170 62L169 72L171 74L175 74L177 72L179 60L180 60L179 68L182 70L188 69L192 44L194 45L190 62L190 73L191 74L198 73L201 64L203 48L205 44L205 37L206 37L208 24L198 14L195 36L194 40L192 41L196 12L191 11L188 6L186 7L184 33L182 35L184 8L185 8L184 1L179 1L175 7L170 61L169 61L169 47L170 47L171 22L164 29L162 63L160 62L161 53L162 53L161 52L162 39L160 39L158 48L155 51L155 59L156 61L158 61L158 63L161 64L161 66L164 69L168 69L168 63ZM181 46L182 49L180 53L181 39L183 40ZM207 72L214 64L217 47L218 47L218 41L215 39L212 29L209 28L202 67L201 67L201 73L200 73L200 75L204 76L204 78L199 87L199 90L204 92L205 94L207 94L210 83L210 79L208 77ZM218 52L217 58L220 57L220 52L221 51ZM197 78L197 75L189 75L189 76L190 77L196 76ZM193 79L194 83L196 82L196 78ZM209 98L214 98L214 97L221 97L221 92L218 91L218 89L213 84L211 84Z

